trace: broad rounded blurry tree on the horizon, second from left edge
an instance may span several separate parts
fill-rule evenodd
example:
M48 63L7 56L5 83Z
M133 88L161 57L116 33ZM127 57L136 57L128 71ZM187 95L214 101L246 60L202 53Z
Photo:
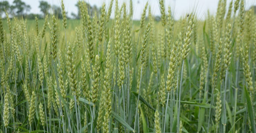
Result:
M25 15L26 12L29 12L31 9L30 5L26 5L26 3L24 3L21 0L14 0L12 3L13 5L11 6L11 10L14 13L14 15Z

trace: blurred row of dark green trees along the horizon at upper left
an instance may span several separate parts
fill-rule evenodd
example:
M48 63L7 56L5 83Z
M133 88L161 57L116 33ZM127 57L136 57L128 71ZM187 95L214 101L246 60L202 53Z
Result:
M78 7L78 3L76 3L75 6L78 8L78 12L72 12L71 18L79 19L80 9ZM47 1L41 0L39 1L38 8L40 8L41 14L33 14L29 13L31 9L30 5L26 4L22 0L14 0L12 3L4 0L0 2L0 15L3 17L5 16L5 12L8 12L8 14L12 17L23 17L27 19L35 19L35 17L37 17L39 19L42 19L48 14L54 14L59 19L62 19L61 7L58 5L50 5ZM96 5L91 6L89 3L87 3L87 9L88 12L100 12L100 8L97 8ZM69 16L67 16L67 18L70 19Z

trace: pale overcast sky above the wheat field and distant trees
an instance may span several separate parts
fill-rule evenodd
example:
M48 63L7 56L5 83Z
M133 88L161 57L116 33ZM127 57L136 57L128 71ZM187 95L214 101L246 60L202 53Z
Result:
M0 0L2 1L2 0ZM14 0L8 0L10 4ZM40 0L22 0L26 4L29 4L31 7L30 13L34 14L42 14L40 12L39 1ZM60 0L45 0L48 1L51 5L59 5ZM105 1L106 6L109 6L110 0L86 0L87 3L91 5L96 5L97 7L101 6L103 1ZM129 5L130 0L118 0L120 3L127 3ZM147 0L132 0L133 1L133 19L140 19L140 15L142 14L144 5L146 4ZM159 4L158 0L148 0L151 6L151 11L154 15L160 15ZM215 14L217 11L219 0L165 0L166 9L167 6L170 6L172 12L174 13L175 19L180 18L182 15L186 15L188 12L196 9L196 14L199 18L204 19L207 15L207 10L209 9L211 14ZM227 0L227 8L229 6L231 0ZM64 0L65 9L68 12L68 16L71 16L71 12L75 14L78 12L75 4L78 0ZM249 9L252 5L256 5L256 0L245 0L245 8ZM128 8L129 9L129 8ZM114 4L112 8L112 16L114 10Z

